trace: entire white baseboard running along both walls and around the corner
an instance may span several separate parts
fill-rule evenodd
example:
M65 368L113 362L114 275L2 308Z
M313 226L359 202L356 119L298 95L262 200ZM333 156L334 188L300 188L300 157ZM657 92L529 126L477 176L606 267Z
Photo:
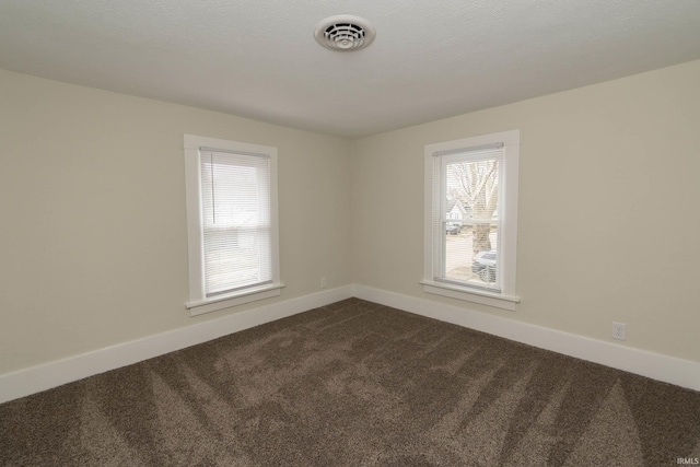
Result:
M346 285L0 375L0 404L357 296L540 349L700 390L700 363L415 296Z

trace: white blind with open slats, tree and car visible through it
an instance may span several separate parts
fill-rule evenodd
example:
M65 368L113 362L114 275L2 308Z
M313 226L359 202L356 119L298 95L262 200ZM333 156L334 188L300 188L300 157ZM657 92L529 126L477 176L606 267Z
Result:
M502 143L433 154L433 280L501 293L503 156Z

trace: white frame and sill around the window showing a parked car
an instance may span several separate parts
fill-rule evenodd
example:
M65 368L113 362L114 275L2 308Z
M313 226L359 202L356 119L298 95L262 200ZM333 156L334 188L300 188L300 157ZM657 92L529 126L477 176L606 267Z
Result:
M520 163L520 130L502 131L498 133L483 135L472 138L444 141L425 145L425 171L424 171L424 256L423 256L423 291L427 293L450 296L452 299L467 302L480 303L499 308L515 311L521 299L515 289L516 271L516 248L517 248L517 185L518 185L518 163ZM501 292L480 290L467 285L435 280L440 264L434 257L436 242L443 242L444 229L439 231L433 223L433 210L436 202L433 200L434 187L434 156L438 153L453 152L471 148L486 147L491 144L503 144L503 172L504 180L503 196L499 199L499 255L501 255L502 270ZM440 183L445 183L442 177ZM439 203L438 203L439 205ZM441 238L442 236L442 238Z

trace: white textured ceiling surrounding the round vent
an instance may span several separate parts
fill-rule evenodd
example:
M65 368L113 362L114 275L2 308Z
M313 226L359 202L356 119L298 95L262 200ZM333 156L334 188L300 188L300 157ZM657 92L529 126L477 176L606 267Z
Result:
M699 0L0 0L0 68L342 137L698 58Z

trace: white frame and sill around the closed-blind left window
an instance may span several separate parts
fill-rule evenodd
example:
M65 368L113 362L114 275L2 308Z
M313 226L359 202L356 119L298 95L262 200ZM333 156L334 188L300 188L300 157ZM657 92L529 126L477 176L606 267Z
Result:
M187 238L189 253L189 301L186 303L190 316L201 315L257 300L279 295L284 284L280 281L279 223L277 186L277 148L238 141L185 135L185 188L187 202ZM200 148L218 149L244 154L262 154L270 161L270 229L272 281L262 285L207 297L205 292L205 253L202 238L201 165Z

